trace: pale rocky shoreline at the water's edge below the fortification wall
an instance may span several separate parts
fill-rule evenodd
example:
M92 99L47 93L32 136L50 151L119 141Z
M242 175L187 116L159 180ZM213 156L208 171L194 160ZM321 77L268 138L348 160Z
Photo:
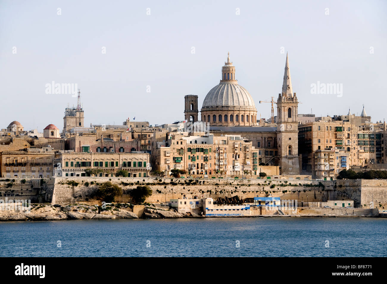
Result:
M150 204L144 208L143 219L202 218L195 213L178 213L168 206ZM108 204L106 208L93 205L31 205L30 210L0 210L0 221L53 221L81 219L139 219L129 203Z

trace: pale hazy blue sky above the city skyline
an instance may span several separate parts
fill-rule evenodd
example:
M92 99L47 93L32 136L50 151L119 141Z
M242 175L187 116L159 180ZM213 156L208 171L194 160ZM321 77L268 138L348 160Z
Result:
M80 89L85 126L183 120L184 96L198 95L200 110L227 52L257 117L271 115L259 101L281 93L288 52L299 114L360 115L364 104L383 121L386 15L373 0L1 0L0 128L62 130L77 98L52 82Z

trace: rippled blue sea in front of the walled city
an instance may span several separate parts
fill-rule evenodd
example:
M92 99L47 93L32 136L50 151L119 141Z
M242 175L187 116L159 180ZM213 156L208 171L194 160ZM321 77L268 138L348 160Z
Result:
M0 222L0 256L387 256L387 218Z

